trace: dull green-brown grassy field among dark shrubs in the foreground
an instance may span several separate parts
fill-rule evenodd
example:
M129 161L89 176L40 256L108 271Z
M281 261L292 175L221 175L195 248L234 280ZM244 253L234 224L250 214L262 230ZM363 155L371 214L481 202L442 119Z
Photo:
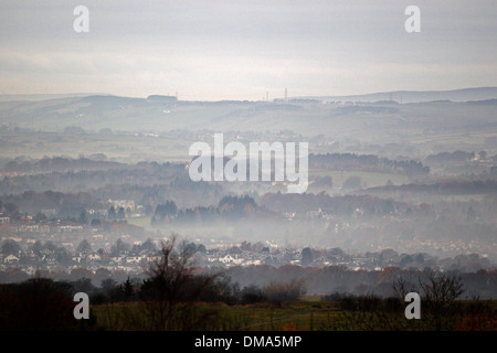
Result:
M309 299L309 298L308 298ZM483 301L497 309L497 300ZM472 304L464 301L463 306ZM144 307L140 303L117 303L93 307L93 314L103 330L149 330L144 319ZM343 310L336 301L298 301L281 303L257 303L226 306L197 304L193 310L186 311L191 321L200 325L188 329L202 331L361 331L361 330L432 330L433 319L408 320L404 308L390 312ZM183 312L181 312L183 314ZM134 319L133 319L134 318ZM476 317L475 317L476 318ZM464 315L462 320L453 320L456 330L467 330L475 324L473 317ZM482 318L477 319L482 321ZM496 330L494 315L484 318L485 323L477 322L485 330ZM176 329L172 330L181 330Z

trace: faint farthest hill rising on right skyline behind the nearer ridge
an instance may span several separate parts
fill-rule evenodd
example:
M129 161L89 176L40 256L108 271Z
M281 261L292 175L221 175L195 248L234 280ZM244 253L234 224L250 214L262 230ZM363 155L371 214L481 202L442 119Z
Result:
M351 96L296 97L296 99L317 98L325 101L378 101L422 103L433 100L486 100L497 98L497 87L476 87L451 90L392 90Z

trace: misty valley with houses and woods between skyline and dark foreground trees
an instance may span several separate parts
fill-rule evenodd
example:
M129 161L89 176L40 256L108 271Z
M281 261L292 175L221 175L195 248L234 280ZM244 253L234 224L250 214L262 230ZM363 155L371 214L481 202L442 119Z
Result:
M466 297L495 298L495 107L426 98L1 101L0 281L42 274L99 288L144 278L161 242L177 236L195 266L242 288L303 278L308 295L388 297L385 270L430 269L483 271L491 280ZM245 181L248 164L246 179L192 181L189 147L221 132L240 146L308 142L307 190L288 193L274 173Z

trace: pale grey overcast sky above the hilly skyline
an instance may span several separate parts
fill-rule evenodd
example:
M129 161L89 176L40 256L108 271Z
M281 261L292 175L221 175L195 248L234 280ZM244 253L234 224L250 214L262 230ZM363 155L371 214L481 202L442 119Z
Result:
M421 9L421 33L404 10ZM76 33L76 6L89 32ZM497 86L497 1L3 1L0 94L269 99Z

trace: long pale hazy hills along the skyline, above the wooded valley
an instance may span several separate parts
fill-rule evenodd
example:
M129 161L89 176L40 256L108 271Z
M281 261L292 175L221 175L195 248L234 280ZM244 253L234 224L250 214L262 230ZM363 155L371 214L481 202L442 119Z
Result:
M402 98L403 104L390 98L399 103ZM306 138L319 137L315 143L348 139L376 145L412 142L424 148L431 141L433 148L436 147L433 151L441 151L442 146L451 147L448 150L470 151L480 150L484 141L485 148L495 148L496 98L497 87L292 98L288 101L192 101L160 95L142 98L88 95L57 99L51 96L47 100L0 101L0 130L21 128L68 135L98 132L99 136L113 132L159 136L176 131L173 135L181 135L184 140L198 140L202 133L210 138L212 131L271 140L289 131ZM322 100L370 104L321 104ZM248 132L258 135L254 137ZM13 139L11 136L7 135ZM15 143L27 143L7 140L7 137L0 139L0 148L14 149ZM42 143L44 141L40 146ZM92 151L95 152L101 152L99 148Z

